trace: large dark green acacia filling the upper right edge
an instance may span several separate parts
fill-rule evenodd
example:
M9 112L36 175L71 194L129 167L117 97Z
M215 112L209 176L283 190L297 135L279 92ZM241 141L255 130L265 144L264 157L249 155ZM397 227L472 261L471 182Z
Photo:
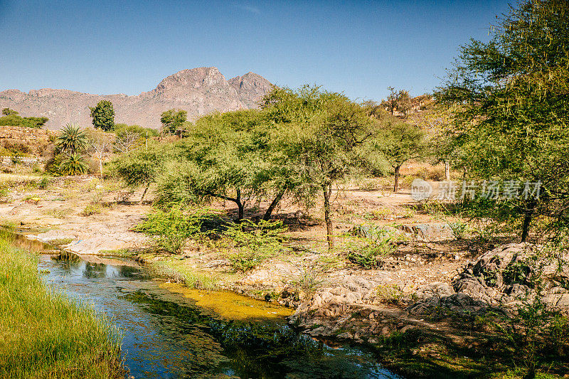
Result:
M521 219L521 240L536 215L554 233L569 226L569 3L526 0L499 19L488 43L462 47L435 94L459 105L453 142L468 156L469 178L541 181L541 195L501 199Z

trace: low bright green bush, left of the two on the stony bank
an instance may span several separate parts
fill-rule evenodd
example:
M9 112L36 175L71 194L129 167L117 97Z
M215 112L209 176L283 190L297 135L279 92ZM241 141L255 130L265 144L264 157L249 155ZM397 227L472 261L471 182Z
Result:
M161 250L179 253L189 237L204 235L206 230L202 230L203 224L217 217L208 208L184 209L173 206L169 210L157 209L134 230L153 236Z

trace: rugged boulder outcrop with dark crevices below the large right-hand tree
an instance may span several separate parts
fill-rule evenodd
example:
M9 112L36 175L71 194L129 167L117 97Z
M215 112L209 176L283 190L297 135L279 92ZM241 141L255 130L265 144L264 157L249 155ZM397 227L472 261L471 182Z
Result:
M436 290L440 284L432 283L418 289L415 296L419 301L408 311L415 315L429 314L437 307L450 311L476 312L489 307L515 311L517 306L537 298L549 309L569 312L568 258L568 252L559 260L528 243L502 245L469 262L452 282L452 288L440 292Z

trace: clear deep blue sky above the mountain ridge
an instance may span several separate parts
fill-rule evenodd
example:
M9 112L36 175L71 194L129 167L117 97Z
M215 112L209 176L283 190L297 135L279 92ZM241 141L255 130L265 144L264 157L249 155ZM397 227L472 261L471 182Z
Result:
M227 79L252 71L358 100L381 100L388 86L420 95L507 10L499 0L0 0L0 90L137 95L216 66Z

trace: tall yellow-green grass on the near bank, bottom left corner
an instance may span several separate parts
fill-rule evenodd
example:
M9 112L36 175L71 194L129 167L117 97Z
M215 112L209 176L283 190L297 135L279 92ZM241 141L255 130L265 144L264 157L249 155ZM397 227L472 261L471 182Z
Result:
M39 275L36 255L0 239L0 378L123 378L117 329Z

